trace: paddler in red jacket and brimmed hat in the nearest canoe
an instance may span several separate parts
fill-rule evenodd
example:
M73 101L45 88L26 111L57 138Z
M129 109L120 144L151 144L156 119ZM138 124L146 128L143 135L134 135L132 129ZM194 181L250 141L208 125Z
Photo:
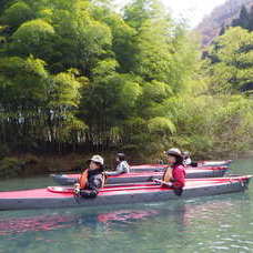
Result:
M185 170L183 165L183 155L179 149L170 149L166 151L168 168L163 174L162 182L174 190L182 190L185 184Z

